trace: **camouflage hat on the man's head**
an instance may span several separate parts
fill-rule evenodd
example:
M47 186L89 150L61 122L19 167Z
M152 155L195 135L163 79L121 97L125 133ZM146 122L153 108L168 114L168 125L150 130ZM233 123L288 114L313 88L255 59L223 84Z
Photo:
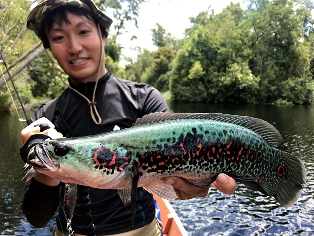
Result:
M27 28L33 30L39 38L42 31L42 23L47 14L60 6L76 6L89 11L89 14L98 20L99 25L107 31L112 20L106 16L92 0L39 0L38 5L27 17Z

